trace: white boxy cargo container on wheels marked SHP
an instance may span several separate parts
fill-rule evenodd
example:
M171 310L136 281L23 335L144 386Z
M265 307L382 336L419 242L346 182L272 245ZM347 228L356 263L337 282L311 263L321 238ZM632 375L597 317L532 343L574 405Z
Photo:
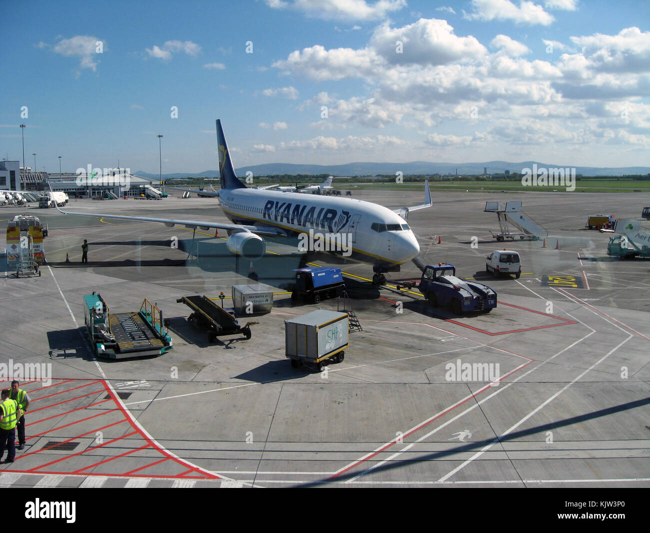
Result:
M310 362L320 372L326 359L343 361L349 331L347 313L319 309L285 320L285 355L294 368Z

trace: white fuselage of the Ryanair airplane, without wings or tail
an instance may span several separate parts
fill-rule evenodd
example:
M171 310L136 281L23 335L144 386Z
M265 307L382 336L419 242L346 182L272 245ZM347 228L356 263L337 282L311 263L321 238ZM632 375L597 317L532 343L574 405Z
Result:
M352 257L370 264L402 264L420 251L406 221L363 200L255 189L221 189L221 207L235 224L275 226L288 234L345 234Z

